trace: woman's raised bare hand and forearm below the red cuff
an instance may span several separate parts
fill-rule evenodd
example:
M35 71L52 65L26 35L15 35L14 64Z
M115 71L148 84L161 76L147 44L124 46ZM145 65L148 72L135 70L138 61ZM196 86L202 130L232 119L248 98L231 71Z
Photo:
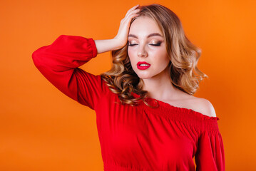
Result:
M97 53L115 51L123 48L123 46L126 46L126 43L128 41L130 21L135 16L138 16L138 11L140 11L140 9L136 9L138 6L139 5L133 6L133 8L127 11L125 18L121 20L118 34L115 38L107 40L94 40L94 42L96 43Z

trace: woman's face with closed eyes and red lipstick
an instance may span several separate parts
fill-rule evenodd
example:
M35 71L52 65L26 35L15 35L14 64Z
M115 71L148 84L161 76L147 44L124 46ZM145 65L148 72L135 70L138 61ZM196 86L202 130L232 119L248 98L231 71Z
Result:
M139 78L160 76L160 73L167 69L170 59L165 48L165 40L153 19L140 16L130 25L128 56L133 71ZM141 66L140 62L148 64Z

